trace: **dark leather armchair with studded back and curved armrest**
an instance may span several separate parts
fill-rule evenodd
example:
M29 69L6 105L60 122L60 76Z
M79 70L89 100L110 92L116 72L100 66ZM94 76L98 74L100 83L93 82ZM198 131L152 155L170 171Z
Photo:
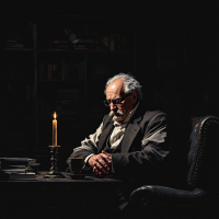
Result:
M145 218L219 218L219 118L195 117L189 119L189 124L187 127L175 124L175 129L181 127L181 136L177 134L173 143L177 151L177 142L189 142L188 150L184 150L187 155L183 158L184 161L182 157L177 161L181 150L178 154L174 154L173 150L175 173L181 172L178 162L187 163L180 174L186 177L185 184L182 183L184 176L176 175L172 186L143 185L130 195L131 203L141 206ZM189 139L185 132L189 132ZM183 140L182 135L186 136L187 141Z

